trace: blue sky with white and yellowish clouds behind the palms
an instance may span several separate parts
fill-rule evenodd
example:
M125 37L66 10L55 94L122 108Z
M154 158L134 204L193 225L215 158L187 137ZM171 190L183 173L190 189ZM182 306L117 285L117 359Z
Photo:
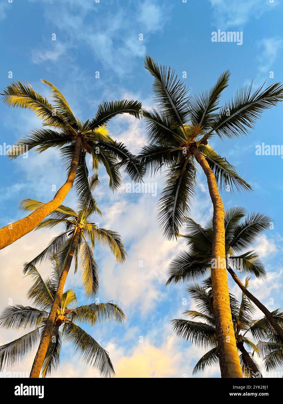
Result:
M95 115L103 101L138 99L150 108L153 78L143 66L149 54L184 77L190 94L209 89L229 69L229 87L221 99L224 103L252 80L254 89L264 82L268 86L283 80L281 16L282 4L277 0L1 0L0 88L26 80L48 97L48 88L40 79L48 80L84 121ZM212 33L218 29L238 32L242 40L212 42ZM252 278L250 288L270 311L283 307L282 157L256 155L256 146L262 142L281 145L282 112L283 105L265 111L248 137L223 142L214 138L210 142L254 189L244 194L223 191L224 207L243 206L249 213L261 212L273 218L274 228L255 244L267 279ZM6 145L40 127L40 121L30 111L11 109L3 103L0 113L0 225L5 226L25 216L17 209L22 198L51 200L66 174L56 150L40 155L30 151L27 158L9 161ZM132 153L146 144L143 121L130 116L117 116L109 122L109 130ZM156 187L152 194L127 193L130 179L125 174L115 194L103 169L99 178L101 187L95 197L103 217L96 221L122 235L128 259L117 265L111 252L96 246L98 299L113 300L122 307L127 320L122 325L108 323L85 329L109 352L116 377L192 377L204 351L179 339L170 325L171 319L184 318L183 311L193 309L194 303L185 292L186 284L165 286L168 264L185 245L180 240L166 240L156 223L162 177L145 179ZM64 204L75 208L75 199L75 191L71 191ZM199 170L191 217L205 225L211 216L207 183ZM23 263L42 251L58 232L56 228L33 231L0 251L0 308L28 303L25 293L31 280L23 278ZM47 276L51 266L44 263L38 269ZM240 297L232 282L229 280L231 293ZM67 287L75 289L79 305L89 303L80 273L70 271ZM255 318L261 316L257 309ZM0 330L0 344L22 334ZM28 375L34 353L7 370ZM60 368L53 377L99 374L64 344ZM195 377L220 377L220 372L218 367L208 368Z

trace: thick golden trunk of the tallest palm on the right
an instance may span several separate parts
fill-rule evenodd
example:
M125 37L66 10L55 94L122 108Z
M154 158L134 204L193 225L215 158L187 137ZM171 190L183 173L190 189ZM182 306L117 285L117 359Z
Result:
M221 377L243 377L230 308L226 272L224 206L214 173L205 157L197 149L196 144L191 145L190 151L206 175L213 204L212 262L215 262L215 265L211 269L211 279Z

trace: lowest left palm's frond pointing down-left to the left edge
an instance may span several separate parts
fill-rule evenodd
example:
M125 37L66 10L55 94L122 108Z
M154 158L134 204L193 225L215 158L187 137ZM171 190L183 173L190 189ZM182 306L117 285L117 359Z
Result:
M5 366L13 366L24 359L27 354L34 349L40 341L39 328L28 332L5 345L0 346L0 370Z

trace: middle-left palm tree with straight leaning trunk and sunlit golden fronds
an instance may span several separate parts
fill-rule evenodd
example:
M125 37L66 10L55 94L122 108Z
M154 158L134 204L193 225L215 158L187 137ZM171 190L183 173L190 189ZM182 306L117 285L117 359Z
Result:
M43 202L31 199L21 201L21 207L24 210L34 210L42 206L42 204ZM24 273L32 273L37 263L51 259L54 255L57 255L59 265L63 268L30 377L39 377L40 375L40 369L42 368L50 342L56 312L62 298L63 288L73 258L75 260L75 272L79 267L80 258L82 282L86 295L89 297L94 297L99 289L99 271L92 251L95 242L97 241L110 248L118 263L121 264L126 260L126 250L121 236L116 231L99 228L95 222L90 221L90 218L97 209L95 202L92 202L88 206L85 202L79 201L78 212L61 205L37 226L37 229L50 229L64 224L65 231L53 238L37 257L24 265Z

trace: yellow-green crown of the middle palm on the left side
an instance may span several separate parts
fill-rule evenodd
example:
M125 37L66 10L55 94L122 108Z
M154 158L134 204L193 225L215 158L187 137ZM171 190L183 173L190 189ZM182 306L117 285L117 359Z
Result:
M94 184L97 186L99 183L97 177L90 182L91 189L93 189ZM64 267L75 235L79 233L78 243L73 255L75 272L80 265L86 295L92 297L97 295L99 290L99 270L92 251L95 247L95 242L97 241L110 248L118 263L123 263L126 260L126 250L119 233L100 228L95 222L91 221L94 213L100 213L93 198L92 201L94 202L89 205L86 205L82 200L79 201L77 212L61 205L37 226L37 229L44 227L50 229L63 224L65 225L65 231L53 238L37 257L29 263L25 263L25 273L32 271L36 263L51 259L55 254L58 256L60 265ZM24 199L20 204L23 210L34 210L41 205L42 202L31 199Z

